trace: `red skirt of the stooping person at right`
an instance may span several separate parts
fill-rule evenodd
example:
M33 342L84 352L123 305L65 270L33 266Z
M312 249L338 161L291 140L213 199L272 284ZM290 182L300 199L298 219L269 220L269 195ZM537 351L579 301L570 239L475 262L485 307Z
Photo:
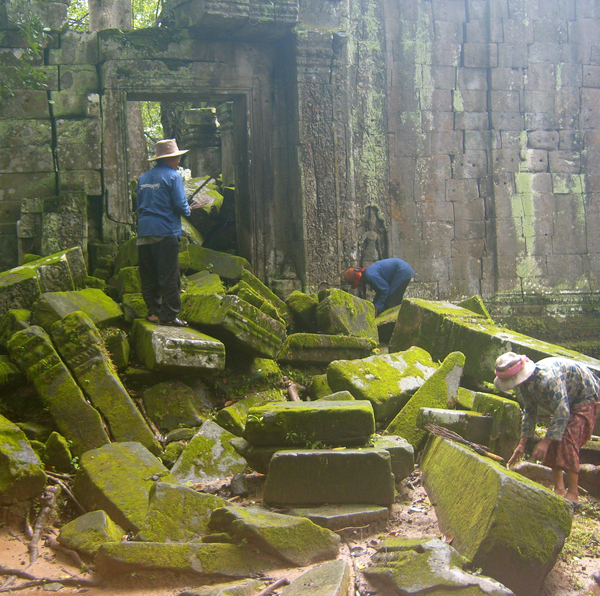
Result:
M594 432L600 402L590 402L571 408L571 416L560 441L552 441L543 464L579 473L579 450Z

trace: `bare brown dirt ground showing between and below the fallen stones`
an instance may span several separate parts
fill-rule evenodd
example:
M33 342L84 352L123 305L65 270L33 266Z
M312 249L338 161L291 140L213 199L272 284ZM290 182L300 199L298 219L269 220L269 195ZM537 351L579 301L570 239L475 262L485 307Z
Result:
M411 483L414 483L411 485ZM585 509L585 508L584 508ZM600 509L600 507L599 507ZM589 523L589 520L587 520ZM574 517L573 528L583 523L579 514ZM596 525L598 520L595 519ZM600 534L600 525L598 525ZM420 485L418 474L402 485L397 502L392 507L390 519L385 529L369 534L363 530L354 530L349 536L342 538L340 557L346 559L353 571L355 594L371 596L377 594L373 586L363 578L361 570L368 566L370 557L376 552L375 547L388 535L407 537L434 536L442 534L437 525L435 512L429 503L425 490ZM596 535L594 534L594 537ZM600 542L600 539L599 539ZM176 596L185 589L198 588L203 585L198 577L164 573L146 572L132 573L128 576L100 578L93 572L81 573L80 569L64 553L54 552L40 544L40 555L33 566L28 567L29 554L27 540L18 528L4 526L0 528L0 565L5 569L27 570L41 578L53 578L60 584L64 578L84 578L102 582L100 587L47 585L19 589L27 580L15 579L6 584L7 576L0 581L0 592L14 590L17 595L41 595L44 591L59 591L60 594L85 594L86 596ZM282 569L264 578L267 583L279 578L290 581L309 568ZM591 557L571 557L568 562L559 560L548 575L540 596L600 596L600 588L592 578L592 574L600 573L600 555L595 552ZM50 590L49 590L50 588ZM280 593L274 592L274 594Z

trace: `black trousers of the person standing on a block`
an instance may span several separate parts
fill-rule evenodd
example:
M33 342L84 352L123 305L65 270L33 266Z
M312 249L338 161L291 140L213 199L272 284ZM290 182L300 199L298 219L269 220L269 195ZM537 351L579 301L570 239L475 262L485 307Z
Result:
M138 256L148 315L158 315L161 323L172 321L181 309L179 240L166 236L155 244L140 244Z

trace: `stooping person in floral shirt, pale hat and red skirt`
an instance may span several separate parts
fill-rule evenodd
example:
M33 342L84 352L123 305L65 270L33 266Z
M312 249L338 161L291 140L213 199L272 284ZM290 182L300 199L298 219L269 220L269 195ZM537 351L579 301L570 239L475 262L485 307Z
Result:
M521 440L508 466L523 457L527 440L535 435L541 406L552 414L552 420L546 436L533 450L533 460L552 468L555 493L578 503L579 451L594 431L600 380L589 368L566 358L544 358L534 363L514 352L496 360L495 373L496 387L501 391L516 388L524 404Z

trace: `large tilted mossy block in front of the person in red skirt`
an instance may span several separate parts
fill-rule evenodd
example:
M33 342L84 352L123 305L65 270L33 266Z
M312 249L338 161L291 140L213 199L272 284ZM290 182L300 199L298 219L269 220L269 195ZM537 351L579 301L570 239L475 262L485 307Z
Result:
M440 529L454 537L456 550L515 594L537 594L571 531L571 505L440 437L430 438L421 470Z

